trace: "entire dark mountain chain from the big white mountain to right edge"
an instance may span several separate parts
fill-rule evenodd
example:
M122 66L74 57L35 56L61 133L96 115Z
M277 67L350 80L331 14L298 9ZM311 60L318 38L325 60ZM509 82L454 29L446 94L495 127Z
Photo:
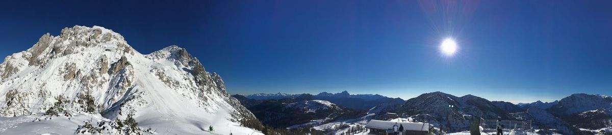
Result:
M278 108L287 108L286 106L291 103L304 103L298 101L321 100L329 101L329 103L337 105L338 108L344 108L336 110L340 113L349 112L354 114L359 112L359 115L362 117L361 119L384 119L384 117L368 116L381 116L386 112L394 112L400 114L400 117L408 118L413 122L428 122L440 130L440 133L465 131L468 130L472 120L480 118L494 120L498 116L504 120L531 122L532 127L539 129L540 134L609 134L610 132L606 131L612 129L612 97L605 95L573 94L554 102L537 101L521 103L520 105L503 101L491 102L476 95L457 97L444 92L425 93L405 102L401 99L393 99L376 94L351 95L346 91L336 94L328 92L321 92L317 95L279 93L253 94L246 97L234 95L234 97L253 111L253 114L258 119L267 119L265 118L267 116L258 115L258 108L269 106L271 102L282 101L282 103L275 105L278 105ZM251 98L257 98L257 100ZM253 108L253 105L258 106L258 108ZM327 114L331 113L327 112ZM291 114L286 113L285 115L291 117ZM353 118L335 117L334 119L337 122L343 122L342 119L348 120ZM322 119L322 117L317 119ZM315 119L313 120L316 121ZM307 122L307 120L302 121L312 123L313 120L310 122ZM263 123L267 122L263 121ZM297 122L287 125L299 124ZM321 122L312 124L312 126L319 130L333 127L329 126L329 124L331 123ZM358 123L354 124L358 125ZM326 131L333 130L327 129Z

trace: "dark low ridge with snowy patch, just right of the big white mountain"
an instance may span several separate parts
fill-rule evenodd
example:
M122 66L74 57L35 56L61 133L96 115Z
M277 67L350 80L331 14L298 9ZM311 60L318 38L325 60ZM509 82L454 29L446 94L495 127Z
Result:
M339 106L326 100L316 100L313 95L302 94L286 99L248 99L232 95L247 107L262 123L276 128L320 125L338 119L353 119L359 111Z

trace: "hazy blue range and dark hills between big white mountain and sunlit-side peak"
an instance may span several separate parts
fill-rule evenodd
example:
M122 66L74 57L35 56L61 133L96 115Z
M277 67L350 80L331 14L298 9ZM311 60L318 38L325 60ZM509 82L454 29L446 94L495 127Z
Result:
M397 109L405 103L405 100L400 98L378 94L353 95L347 91L336 94L321 92L317 95L277 93L232 96L253 112L261 122L277 128L321 125L334 120L355 119L368 112L376 115ZM313 106L329 107L312 108ZM391 106L397 108L389 108Z

